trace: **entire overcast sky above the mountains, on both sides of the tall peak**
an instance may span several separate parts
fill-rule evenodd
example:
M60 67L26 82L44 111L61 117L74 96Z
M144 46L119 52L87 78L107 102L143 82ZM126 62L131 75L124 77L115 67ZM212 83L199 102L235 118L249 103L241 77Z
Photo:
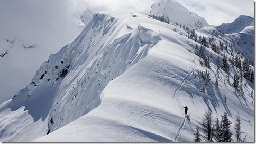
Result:
M33 18L47 20L47 23L65 22L71 13L82 13L89 8L93 13L114 9L136 9L150 12L151 5L158 0L1 0L1 21L8 25L26 23ZM231 23L239 15L254 17L253 0L176 0L190 11L202 16L210 25ZM60 20L59 20L60 19ZM55 22L54 20L57 20ZM40 23L40 20L37 20ZM3 23L3 21L1 22ZM0 23L0 26L1 26ZM44 22L46 23L46 22ZM69 23L67 23L69 24Z

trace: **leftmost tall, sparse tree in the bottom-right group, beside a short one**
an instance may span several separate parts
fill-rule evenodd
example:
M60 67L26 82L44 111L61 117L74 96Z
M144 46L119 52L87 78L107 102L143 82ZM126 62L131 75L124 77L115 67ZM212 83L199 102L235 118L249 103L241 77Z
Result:
M202 125L202 130L206 134L205 137L210 141L211 136L213 135L212 133L212 123L213 123L213 117L212 117L212 112L210 110L206 110L205 114L203 116L201 125Z

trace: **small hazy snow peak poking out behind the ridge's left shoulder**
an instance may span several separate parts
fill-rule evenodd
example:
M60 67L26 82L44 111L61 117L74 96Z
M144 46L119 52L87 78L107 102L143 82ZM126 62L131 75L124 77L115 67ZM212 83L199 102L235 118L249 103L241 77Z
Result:
M90 21L90 19L93 17L93 13L90 11L90 9L86 9L83 14L74 14L74 17L76 18L76 24L78 26L86 26L86 24Z

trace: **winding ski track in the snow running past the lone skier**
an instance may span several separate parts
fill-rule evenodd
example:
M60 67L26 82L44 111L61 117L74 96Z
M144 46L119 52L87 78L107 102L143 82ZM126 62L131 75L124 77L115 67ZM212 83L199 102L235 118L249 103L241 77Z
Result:
M189 51L190 51L190 50L189 50ZM181 108L182 108L183 106L181 105L180 101L179 101L178 98L176 97L176 94L177 94L177 91L182 87L182 85L183 85L183 84L185 83L185 81L188 79L188 77L190 77L190 76L193 74L193 72L195 71L196 63L195 63L195 57L194 57L194 55L193 55L193 60L192 60L192 61L194 62L193 69L192 69L192 70L190 71L190 73L181 81L179 87L175 90L175 92L174 92L174 94L173 94L173 96L172 96L173 100L176 101L176 104L180 107L180 110L181 110L181 111L182 111ZM177 135L176 135L176 137L175 137L174 142L177 142L177 140L178 140L178 138L179 138L179 135L180 135L180 132L182 131L182 129L183 129L184 126L185 126L185 122L186 122L186 116L185 116L185 118L184 118L184 120L183 120L182 126L179 128L179 130L178 130L178 132L177 132ZM194 133L193 128L192 128L190 122L189 122L188 124L189 124L189 126L190 126L192 132Z

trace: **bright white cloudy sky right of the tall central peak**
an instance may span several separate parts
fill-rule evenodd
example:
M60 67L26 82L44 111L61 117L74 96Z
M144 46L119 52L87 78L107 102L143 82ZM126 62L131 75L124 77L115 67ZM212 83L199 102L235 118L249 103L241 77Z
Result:
M202 16L210 25L231 23L240 15L254 17L253 0L177 0L190 11Z

